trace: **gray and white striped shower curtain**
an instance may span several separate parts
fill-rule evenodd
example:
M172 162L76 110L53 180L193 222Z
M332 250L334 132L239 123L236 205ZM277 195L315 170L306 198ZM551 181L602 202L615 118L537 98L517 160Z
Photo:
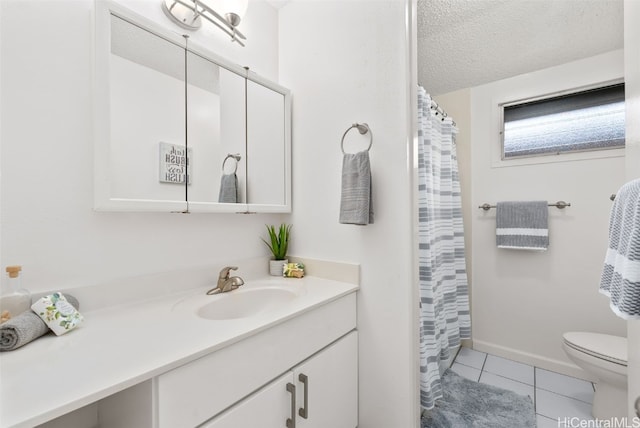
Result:
M450 350L471 337L462 203L451 118L418 88L418 265L420 402L442 397L440 373Z

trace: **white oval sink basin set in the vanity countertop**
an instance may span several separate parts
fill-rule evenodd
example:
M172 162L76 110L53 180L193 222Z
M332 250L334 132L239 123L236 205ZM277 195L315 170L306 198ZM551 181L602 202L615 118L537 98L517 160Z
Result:
M198 307L196 314L210 320L247 318L275 309L298 297L295 289L280 287L245 288L218 294Z

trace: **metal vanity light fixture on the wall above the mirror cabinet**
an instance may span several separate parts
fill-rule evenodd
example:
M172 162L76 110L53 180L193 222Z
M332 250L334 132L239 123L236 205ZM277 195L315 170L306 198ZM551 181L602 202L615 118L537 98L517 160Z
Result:
M162 10L173 22L187 30L198 30L202 18L244 46L247 38L238 31L248 0L162 0Z

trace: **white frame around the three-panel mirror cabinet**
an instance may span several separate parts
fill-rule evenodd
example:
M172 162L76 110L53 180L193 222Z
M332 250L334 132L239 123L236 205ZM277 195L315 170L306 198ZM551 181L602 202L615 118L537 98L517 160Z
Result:
M120 212L193 212L193 213L290 213L291 212L291 91L268 79L230 63L226 59L189 43L185 46L182 35L162 28L159 24L140 16L129 9L108 1L95 3L94 27L94 208L97 211ZM284 97L284 203L212 203L198 201L167 201L152 199L122 199L111 195L112 172L110 169L110 51L111 15L118 16L137 26L155 33L178 46L184 47L221 67L254 81ZM212 165L219 168L219 165ZM250 174L250 172L248 172ZM248 179L248 178L247 178Z

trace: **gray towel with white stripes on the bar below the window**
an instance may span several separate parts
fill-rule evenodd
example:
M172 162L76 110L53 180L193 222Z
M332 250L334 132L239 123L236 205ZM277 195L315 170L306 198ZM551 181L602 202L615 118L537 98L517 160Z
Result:
M509 201L496 204L498 248L544 251L549 246L547 201Z

